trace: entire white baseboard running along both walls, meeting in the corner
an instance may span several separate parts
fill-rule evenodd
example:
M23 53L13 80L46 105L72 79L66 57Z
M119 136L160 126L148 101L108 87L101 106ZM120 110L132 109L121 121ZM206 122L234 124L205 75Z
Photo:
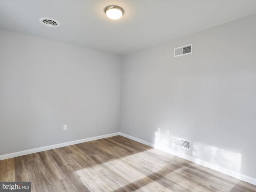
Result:
M56 149L56 148L60 148L60 147L70 146L70 145L74 145L74 144L78 144L78 143L83 143L83 142L88 142L88 141L108 138L108 137L117 136L117 135L124 136L126 138L129 138L131 140L140 142L140 143L148 145L150 147L154 147L155 146L155 144L153 144L153 143L141 140L139 138L136 138L136 137L133 137L133 136L121 133L121 132L116 132L116 133L112 133L112 134L106 134L106 135L101 135L101 136L96 136L96 137L91 137L91 138L86 138L86 139L81 139L81 140L75 140L75 141L70 141L70 142L65 142L65 143L60 143L60 144L40 147L40 148L24 150L24 151L10 153L10 154L4 154L4 155L0 155L0 160L4 160L4 159L8 159L8 158L13 158L13 157L18 157L18 156L27 155L27 154L32 154L32 153L41 152L41 151L45 151L45 150L50 150L50 149ZM175 152L173 150L162 150L162 151L170 153L170 154L175 155L175 156L178 156L180 158L189 160L189 161L194 162L196 164L200 164L202 166L211 168L213 170L216 170L218 172L221 172L221 173L224 173L226 175L232 176L234 178L238 178L238 179L240 179L242 181L245 181L245 182L248 182L250 184L256 185L256 178L252 178L252 177L246 176L244 174L241 174L241 173L238 173L238 172L235 172L235 171L232 171L232 170L220 167L220 166L216 166L216 165L211 164L209 162L206 162L206 161L194 158L192 156L181 154L181 153Z

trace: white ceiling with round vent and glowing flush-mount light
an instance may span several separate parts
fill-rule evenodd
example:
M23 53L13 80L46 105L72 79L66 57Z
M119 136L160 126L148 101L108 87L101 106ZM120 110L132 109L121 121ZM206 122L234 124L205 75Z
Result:
M121 6L120 20L104 13ZM127 54L256 14L256 0L0 0L0 28ZM49 17L60 27L42 25Z

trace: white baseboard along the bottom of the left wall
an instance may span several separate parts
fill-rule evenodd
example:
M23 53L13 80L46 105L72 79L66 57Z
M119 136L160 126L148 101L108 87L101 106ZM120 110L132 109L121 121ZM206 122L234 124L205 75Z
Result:
M84 142L88 142L88 141L103 139L103 138L117 136L117 135L120 135L120 133L116 132L116 133L112 133L112 134L106 134L106 135L90 137L90 138L86 138L86 139L80 139L80 140L75 140L75 141L70 141L70 142L65 142L65 143L60 143L60 144L55 144L55 145L39 147L39 148L19 151L19 152L15 152L15 153L0 155L0 160L13 158L13 157L18 157L18 156L22 156L22 155L28 155L28 154L37 153L37 152L41 152L41 151L46 151L46 150L50 150L50 149L56 149L56 148L65 147L65 146L69 146L69 145L74 145L74 144L78 144L78 143L84 143Z

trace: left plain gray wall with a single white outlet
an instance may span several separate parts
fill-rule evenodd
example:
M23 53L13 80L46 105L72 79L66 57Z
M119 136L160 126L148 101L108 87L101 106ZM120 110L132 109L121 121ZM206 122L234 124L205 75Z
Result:
M118 132L119 119L120 56L0 30L0 155Z

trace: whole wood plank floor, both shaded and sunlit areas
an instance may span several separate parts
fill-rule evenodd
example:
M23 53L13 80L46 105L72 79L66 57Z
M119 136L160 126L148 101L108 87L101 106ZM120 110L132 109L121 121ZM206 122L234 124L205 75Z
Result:
M0 161L32 192L256 192L256 186L122 136Z

